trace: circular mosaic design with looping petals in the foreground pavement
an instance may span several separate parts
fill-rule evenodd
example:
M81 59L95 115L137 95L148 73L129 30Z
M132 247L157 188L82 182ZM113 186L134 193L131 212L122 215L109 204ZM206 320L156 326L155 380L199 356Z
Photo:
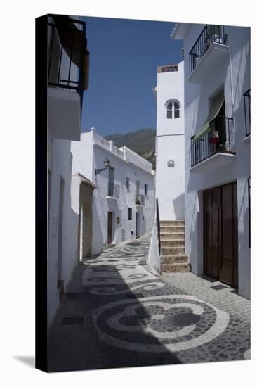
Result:
M219 336L229 315L194 296L119 300L93 310L101 341L138 352L177 352Z

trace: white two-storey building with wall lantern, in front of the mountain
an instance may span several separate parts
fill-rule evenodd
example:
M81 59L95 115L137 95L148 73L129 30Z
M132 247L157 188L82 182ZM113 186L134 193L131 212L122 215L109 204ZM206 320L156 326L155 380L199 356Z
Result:
M76 209L80 259L152 231L155 192L151 163L126 146L117 148L93 128L81 134L80 142L72 141L72 156L72 198L83 201L79 179L88 179L92 186L91 212L81 214L82 205Z

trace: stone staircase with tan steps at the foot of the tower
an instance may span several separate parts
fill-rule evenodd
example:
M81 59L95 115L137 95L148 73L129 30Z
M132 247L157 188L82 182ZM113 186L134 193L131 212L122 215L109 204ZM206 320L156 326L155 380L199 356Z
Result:
M161 220L162 272L190 272L185 255L185 220Z

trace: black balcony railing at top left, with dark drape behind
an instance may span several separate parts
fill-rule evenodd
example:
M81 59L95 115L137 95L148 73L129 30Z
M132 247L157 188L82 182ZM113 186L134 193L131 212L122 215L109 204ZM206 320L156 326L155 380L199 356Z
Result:
M55 15L48 23L48 86L77 92L83 99L88 87L86 23Z

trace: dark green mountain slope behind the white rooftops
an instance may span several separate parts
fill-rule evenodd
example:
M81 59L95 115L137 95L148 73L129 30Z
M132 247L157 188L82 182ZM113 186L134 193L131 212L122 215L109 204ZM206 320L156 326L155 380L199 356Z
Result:
M155 136L156 130L147 128L124 134L109 134L105 139L107 141L112 140L118 148L127 146L132 149L145 160L150 161L152 168L155 170Z

